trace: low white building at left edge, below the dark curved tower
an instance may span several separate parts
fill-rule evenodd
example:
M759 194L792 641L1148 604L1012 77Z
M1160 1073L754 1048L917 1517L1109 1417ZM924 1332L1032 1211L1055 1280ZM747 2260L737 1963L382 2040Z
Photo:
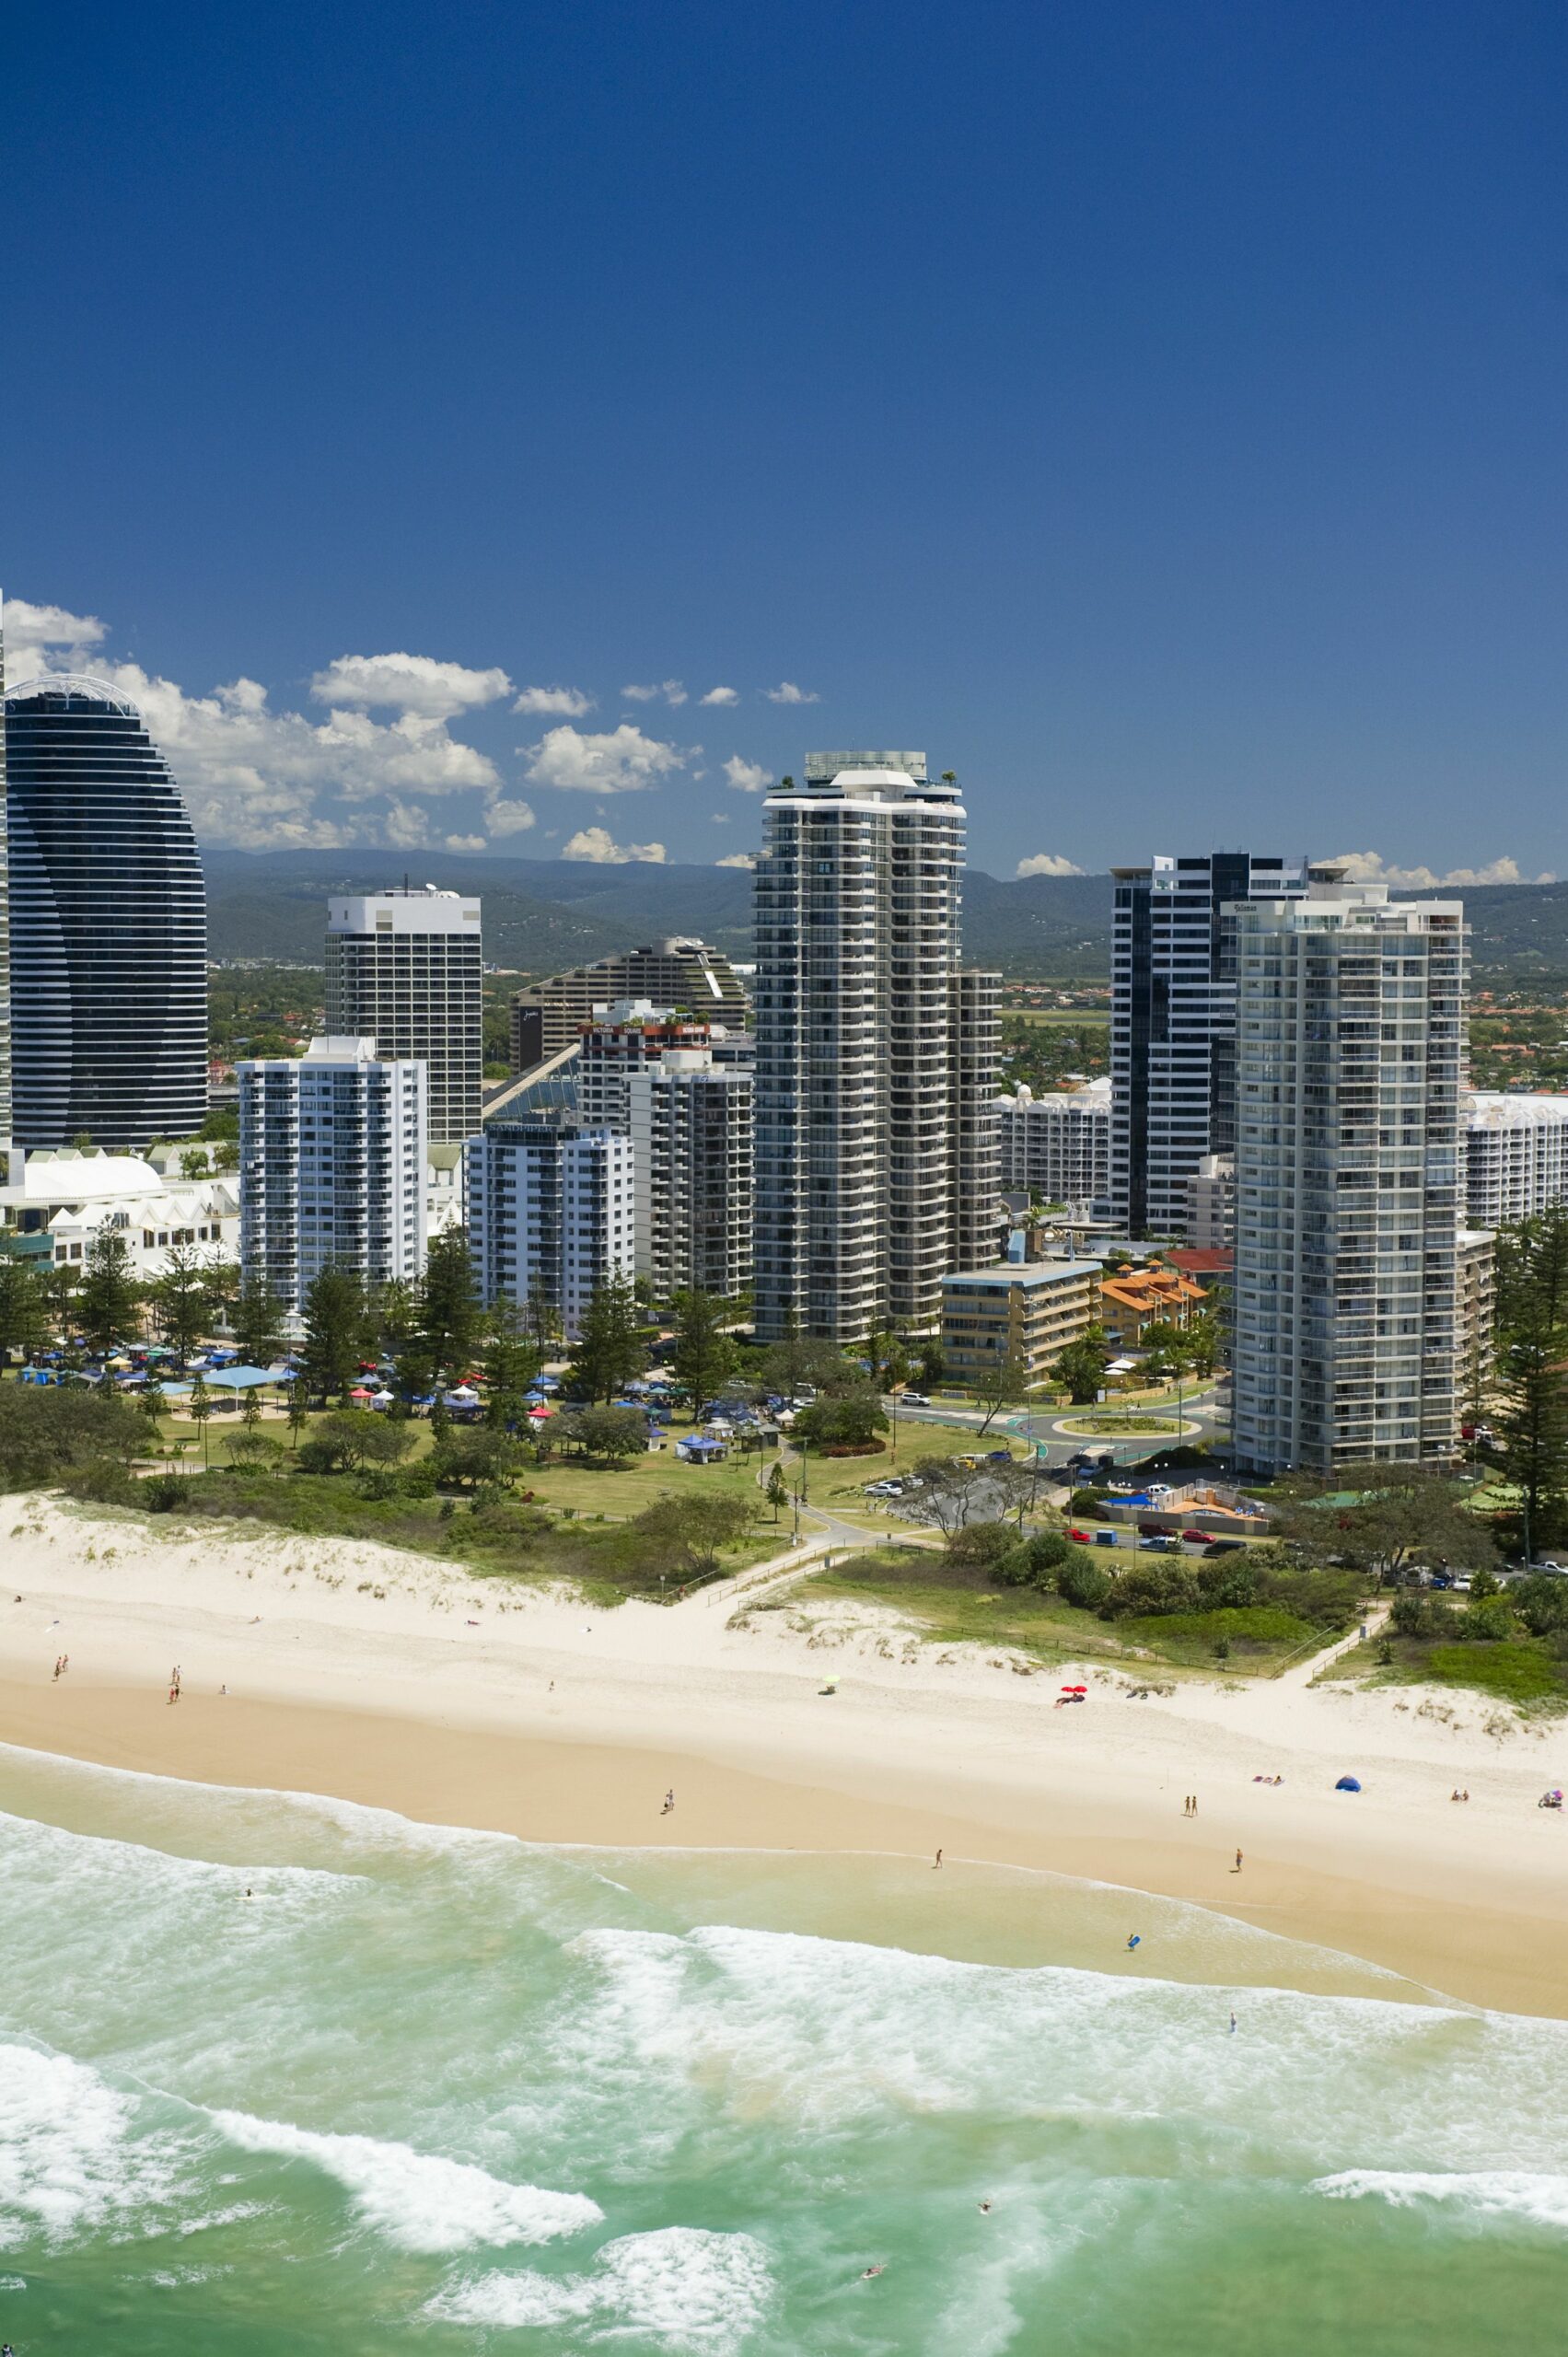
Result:
M125 1237L139 1277L167 1273L170 1249L193 1247L200 1259L236 1259L241 1247L241 1183L236 1176L165 1176L141 1155L94 1155L75 1146L40 1148L12 1186L0 1188L0 1223L19 1235L47 1233L57 1263L80 1263L101 1226Z

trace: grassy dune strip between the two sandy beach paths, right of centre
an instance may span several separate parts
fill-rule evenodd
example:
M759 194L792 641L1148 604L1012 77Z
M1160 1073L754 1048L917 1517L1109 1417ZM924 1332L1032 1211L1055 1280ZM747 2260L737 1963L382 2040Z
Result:
M1335 1631L1278 1605L1219 1612L1170 1612L1103 1622L1061 1596L997 1586L993 1572L948 1563L917 1546L879 1546L813 1572L792 1591L795 1605L861 1600L891 1605L915 1622L931 1645L1007 1645L1045 1664L1103 1659L1129 1673L1148 1669L1221 1671L1217 1645L1228 1643L1226 1673L1273 1676Z

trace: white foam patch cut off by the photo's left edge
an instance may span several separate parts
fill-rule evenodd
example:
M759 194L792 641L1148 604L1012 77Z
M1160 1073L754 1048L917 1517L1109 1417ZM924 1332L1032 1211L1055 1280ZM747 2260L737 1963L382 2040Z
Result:
M0 2046L0 2246L123 2225L174 2183L170 2138L71 2055Z

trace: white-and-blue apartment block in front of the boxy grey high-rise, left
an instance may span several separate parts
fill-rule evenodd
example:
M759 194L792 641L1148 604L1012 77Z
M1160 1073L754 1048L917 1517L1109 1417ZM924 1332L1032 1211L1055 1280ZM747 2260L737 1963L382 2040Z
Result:
M236 1065L241 1263L292 1313L330 1266L363 1285L413 1280L427 1242L424 1065L375 1039Z

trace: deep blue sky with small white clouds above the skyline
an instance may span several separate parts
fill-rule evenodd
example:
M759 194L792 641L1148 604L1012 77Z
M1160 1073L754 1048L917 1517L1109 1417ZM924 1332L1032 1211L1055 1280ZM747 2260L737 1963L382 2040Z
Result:
M207 839L738 858L924 745L1000 874L1568 867L1559 5L149 0L7 82L9 674Z

